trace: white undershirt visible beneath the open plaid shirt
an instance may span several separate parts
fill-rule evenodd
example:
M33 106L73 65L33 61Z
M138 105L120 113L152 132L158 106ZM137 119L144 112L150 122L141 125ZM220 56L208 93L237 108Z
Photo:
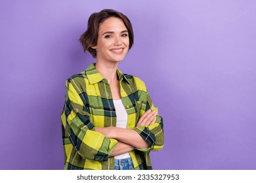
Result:
M123 106L121 99L114 101L114 106L116 108L116 127L126 128L128 115ZM125 159L130 158L129 152L125 152L124 154L119 154L114 157L115 159Z

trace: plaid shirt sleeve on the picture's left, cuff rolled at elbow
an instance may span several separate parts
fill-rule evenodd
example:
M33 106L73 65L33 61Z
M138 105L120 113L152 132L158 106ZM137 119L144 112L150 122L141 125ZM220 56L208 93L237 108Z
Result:
M82 158L107 161L116 148L117 140L95 131L89 116L88 96L86 93L78 93L77 90L81 89L69 80L66 81L66 100L62 114L64 134L73 146L72 151L77 151Z

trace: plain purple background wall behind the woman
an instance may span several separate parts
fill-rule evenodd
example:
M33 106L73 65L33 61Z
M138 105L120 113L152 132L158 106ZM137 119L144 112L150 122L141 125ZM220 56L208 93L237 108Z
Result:
M0 1L0 169L63 169L65 80L92 61L89 15L126 14L119 65L146 82L165 125L154 169L256 169L256 1Z

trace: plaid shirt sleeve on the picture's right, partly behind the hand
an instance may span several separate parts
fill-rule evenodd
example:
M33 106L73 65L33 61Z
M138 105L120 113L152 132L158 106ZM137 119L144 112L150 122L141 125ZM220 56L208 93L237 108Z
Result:
M149 93L147 91L142 93L145 93L146 97L143 98L145 98L146 101L143 101L144 105L140 108L140 116L149 109L158 111L158 108L154 107ZM156 123L154 124L148 126L140 125L134 129L139 133L140 137L150 145L148 148L137 148L137 150L146 152L149 150L161 150L163 148L163 118L161 118L161 116L156 116Z

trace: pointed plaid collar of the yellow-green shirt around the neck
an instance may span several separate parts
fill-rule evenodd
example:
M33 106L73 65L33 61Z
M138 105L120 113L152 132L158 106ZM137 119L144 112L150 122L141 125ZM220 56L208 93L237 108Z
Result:
M127 77L123 75L123 73L121 73L119 69L117 69L116 73L120 81L125 80L125 82L130 83ZM95 84L100 81L108 83L107 80L103 78L103 76L100 75L100 73L98 73L98 70L95 67L95 63L91 63L91 65L87 67L87 69L85 70L85 75L87 75L90 84Z

